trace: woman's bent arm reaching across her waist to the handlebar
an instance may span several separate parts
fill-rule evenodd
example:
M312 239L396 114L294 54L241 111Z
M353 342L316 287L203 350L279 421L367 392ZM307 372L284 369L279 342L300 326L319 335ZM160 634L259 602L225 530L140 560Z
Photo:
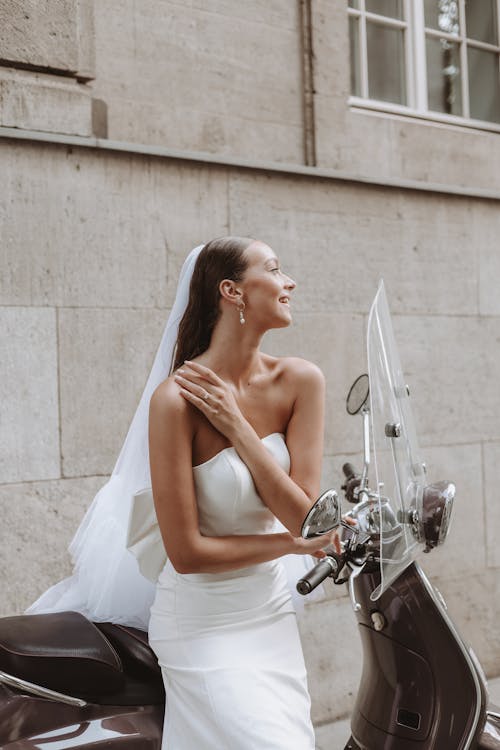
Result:
M179 573L218 573L290 553L321 556L321 548L330 542L329 535L306 541L286 532L225 537L201 534L192 469L190 409L171 379L155 390L149 409L153 498L163 543L174 568ZM266 454L273 467L280 469L267 450Z

